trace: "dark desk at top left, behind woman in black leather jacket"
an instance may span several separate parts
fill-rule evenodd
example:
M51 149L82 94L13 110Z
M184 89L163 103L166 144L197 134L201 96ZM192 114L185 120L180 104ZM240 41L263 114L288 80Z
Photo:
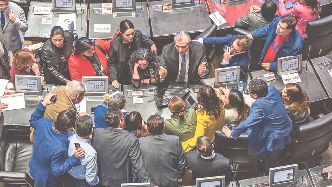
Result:
M83 14L76 14L76 31L78 38L87 36L88 4L82 3ZM53 14L52 24L41 24L42 15L34 15L34 7L52 7L52 2L30 2L28 13L29 29L24 33L25 40L46 40L49 38L51 29L59 25L59 17ZM76 3L76 10L80 10L80 4ZM52 12L52 9L51 9ZM67 29L64 29L67 30Z

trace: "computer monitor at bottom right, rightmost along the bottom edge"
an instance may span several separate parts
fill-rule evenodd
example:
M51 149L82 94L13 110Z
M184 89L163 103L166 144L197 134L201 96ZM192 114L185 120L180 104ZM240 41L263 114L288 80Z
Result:
M297 164L270 168L270 187L296 186Z

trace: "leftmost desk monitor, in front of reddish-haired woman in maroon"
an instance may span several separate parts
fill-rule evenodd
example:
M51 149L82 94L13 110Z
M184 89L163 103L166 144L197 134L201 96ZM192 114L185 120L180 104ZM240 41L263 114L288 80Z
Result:
M16 93L41 95L41 76L15 75Z

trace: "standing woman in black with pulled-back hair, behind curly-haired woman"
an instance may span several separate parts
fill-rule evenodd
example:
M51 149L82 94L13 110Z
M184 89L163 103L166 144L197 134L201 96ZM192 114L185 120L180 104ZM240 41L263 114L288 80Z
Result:
M120 28L113 38L108 54L108 62L111 70L112 86L119 88L121 85L131 85L130 66L128 64L130 55L142 47L148 47L151 51L157 53L157 48L154 42L142 34L141 31L134 30L134 25L129 20L120 22Z

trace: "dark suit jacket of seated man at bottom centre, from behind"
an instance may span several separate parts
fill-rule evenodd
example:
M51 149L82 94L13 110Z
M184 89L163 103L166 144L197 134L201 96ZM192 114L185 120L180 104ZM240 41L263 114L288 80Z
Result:
M197 178L229 175L233 171L230 161L218 153L211 159L204 159L197 151L188 152L186 165L193 172L192 185L196 184Z

